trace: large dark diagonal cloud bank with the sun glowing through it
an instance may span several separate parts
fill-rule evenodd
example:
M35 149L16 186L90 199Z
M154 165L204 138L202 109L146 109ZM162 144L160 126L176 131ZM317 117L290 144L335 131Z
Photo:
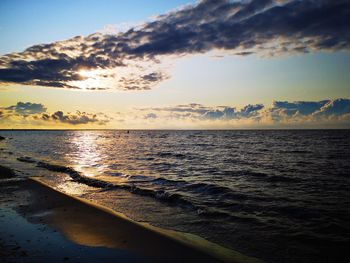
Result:
M349 50L349 17L348 0L202 0L124 32L77 36L4 55L0 81L147 90L168 78L160 62L169 56Z

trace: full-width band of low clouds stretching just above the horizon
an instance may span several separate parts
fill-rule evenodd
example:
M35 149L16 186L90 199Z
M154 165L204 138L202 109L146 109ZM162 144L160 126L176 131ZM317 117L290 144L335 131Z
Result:
M108 128L125 129L350 128L350 99L346 98L320 101L274 101L271 106L248 104L243 107L189 103L138 108L108 115L101 112L82 111L75 113L45 111L24 114L21 111L16 112L17 105L0 107L0 127L49 128L102 125ZM42 108L46 109L44 105Z

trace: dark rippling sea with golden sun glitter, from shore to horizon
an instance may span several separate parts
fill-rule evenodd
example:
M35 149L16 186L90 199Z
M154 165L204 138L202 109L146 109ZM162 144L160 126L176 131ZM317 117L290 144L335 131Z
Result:
M0 162L266 262L350 245L350 130L0 131ZM339 261L338 261L339 262Z

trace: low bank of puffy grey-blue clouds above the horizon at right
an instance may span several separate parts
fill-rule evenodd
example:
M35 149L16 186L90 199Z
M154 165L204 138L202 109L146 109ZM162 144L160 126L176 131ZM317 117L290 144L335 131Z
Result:
M322 101L274 101L271 107L263 104L248 104L240 109L232 106L205 106L191 103L170 107L142 108L143 116L157 116L163 122L191 121L211 123L213 127L225 124L275 127L280 125L347 125L350 126L350 100L335 99ZM232 126L233 125L233 126Z

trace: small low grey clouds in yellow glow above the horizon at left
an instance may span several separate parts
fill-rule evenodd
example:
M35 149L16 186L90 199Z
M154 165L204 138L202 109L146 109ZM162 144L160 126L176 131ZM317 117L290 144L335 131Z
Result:
M103 113L87 113L76 111L76 113L64 113L56 111L53 114L47 112L47 108L41 103L18 102L16 105L9 107L0 107L0 118L5 124L68 124L68 125L85 125L96 124L106 125L111 118Z

